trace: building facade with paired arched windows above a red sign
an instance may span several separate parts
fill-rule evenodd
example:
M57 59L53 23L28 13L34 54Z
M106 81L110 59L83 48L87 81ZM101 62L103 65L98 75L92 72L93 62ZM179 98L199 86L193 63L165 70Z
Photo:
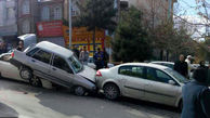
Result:
M63 35L64 0L40 0L36 22L39 41L48 40L65 47Z

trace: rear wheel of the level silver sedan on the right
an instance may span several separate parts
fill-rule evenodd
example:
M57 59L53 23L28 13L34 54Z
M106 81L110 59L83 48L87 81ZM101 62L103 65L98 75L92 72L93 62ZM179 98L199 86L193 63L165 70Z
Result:
M109 100L115 100L118 95L118 91L115 87L108 86L105 88L105 96Z

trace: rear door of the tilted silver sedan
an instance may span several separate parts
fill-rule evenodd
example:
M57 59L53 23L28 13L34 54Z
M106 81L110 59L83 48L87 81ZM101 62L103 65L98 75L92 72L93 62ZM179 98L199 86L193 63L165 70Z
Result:
M34 49L27 55L29 56L28 64L34 69L36 76L51 78L49 73L52 53L41 49Z

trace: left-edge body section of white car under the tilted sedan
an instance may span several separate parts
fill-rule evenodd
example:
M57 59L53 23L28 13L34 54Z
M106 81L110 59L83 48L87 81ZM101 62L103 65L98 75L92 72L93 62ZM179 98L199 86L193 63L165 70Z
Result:
M10 57L11 57L11 54L5 54L5 55L0 57L0 65L1 65L0 73L1 73L1 76L4 77L4 78L10 78L10 79L15 79L15 80L23 80L19 77L18 69L10 63Z

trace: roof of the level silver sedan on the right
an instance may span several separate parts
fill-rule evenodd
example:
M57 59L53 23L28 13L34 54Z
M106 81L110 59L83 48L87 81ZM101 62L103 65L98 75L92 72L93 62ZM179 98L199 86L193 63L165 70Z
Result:
M146 66L146 67L158 68L162 70L169 68L162 65L157 65L157 64L152 64L152 63L126 63L119 66Z

